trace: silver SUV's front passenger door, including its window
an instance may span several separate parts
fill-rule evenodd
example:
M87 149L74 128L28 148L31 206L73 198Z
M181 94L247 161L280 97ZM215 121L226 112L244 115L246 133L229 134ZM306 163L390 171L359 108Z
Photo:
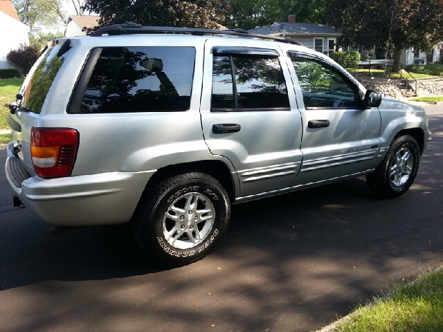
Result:
M294 185L365 172L379 153L379 109L363 107L363 91L327 59L288 55L303 123L303 163Z

